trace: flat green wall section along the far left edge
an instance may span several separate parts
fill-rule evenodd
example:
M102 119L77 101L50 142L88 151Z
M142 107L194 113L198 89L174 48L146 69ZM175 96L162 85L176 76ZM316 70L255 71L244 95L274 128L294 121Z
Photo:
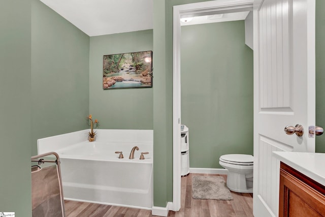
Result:
M0 211L31 216L30 0L0 3Z

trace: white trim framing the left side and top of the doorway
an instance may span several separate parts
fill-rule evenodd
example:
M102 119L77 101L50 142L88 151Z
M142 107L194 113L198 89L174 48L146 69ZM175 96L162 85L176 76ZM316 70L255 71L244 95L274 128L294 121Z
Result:
M180 18L251 11L253 0L217 0L173 7L173 211L181 207Z

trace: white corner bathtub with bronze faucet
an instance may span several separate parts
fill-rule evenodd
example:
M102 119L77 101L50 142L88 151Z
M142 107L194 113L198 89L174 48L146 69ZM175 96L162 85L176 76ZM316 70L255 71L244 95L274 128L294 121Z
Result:
M72 136L76 133L77 137L83 136L87 132L75 132ZM64 138L67 134L59 136ZM48 152L51 144L60 143L57 137L38 141L39 153ZM152 131L99 130L94 142L76 140L73 143L68 139L73 144L53 147L52 151L59 154L61 161L64 199L151 209L152 139ZM135 151L135 159L130 160L134 146L139 150ZM119 159L115 151L122 151L124 158ZM145 151L149 154L140 160L140 153Z

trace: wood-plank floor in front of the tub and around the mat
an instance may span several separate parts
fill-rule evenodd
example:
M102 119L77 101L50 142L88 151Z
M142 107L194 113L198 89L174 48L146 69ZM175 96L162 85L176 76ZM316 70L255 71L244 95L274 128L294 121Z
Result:
M181 179L181 209L170 211L170 217L248 217L253 216L253 194L231 192L234 200L198 200L192 198L192 176L218 176L189 174ZM226 175L220 175L226 180ZM67 217L151 217L151 210L119 206L65 201Z

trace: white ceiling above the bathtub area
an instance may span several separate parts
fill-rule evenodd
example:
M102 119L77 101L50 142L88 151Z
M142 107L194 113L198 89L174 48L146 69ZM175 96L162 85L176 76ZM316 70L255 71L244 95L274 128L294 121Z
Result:
M153 0L40 0L88 36L153 28Z

